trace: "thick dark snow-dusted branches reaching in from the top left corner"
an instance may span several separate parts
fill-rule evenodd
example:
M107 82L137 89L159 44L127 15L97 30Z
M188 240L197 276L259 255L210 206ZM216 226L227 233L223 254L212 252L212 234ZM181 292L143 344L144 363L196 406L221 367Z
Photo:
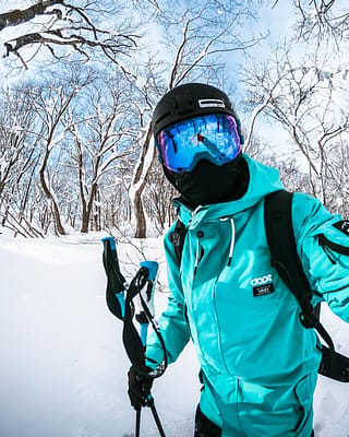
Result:
M55 5L60 8L53 9ZM15 55L27 69L27 59L24 59L21 49L25 46L44 46L55 58L62 58L55 51L55 47L71 46L86 59L91 58L89 49L101 49L104 55L117 62L117 55L127 55L136 47L137 35L130 32L111 33L99 28L88 9L82 9L67 3L64 0L43 0L31 8L14 10L0 14L0 31L8 26L20 26L23 23L33 23L37 15L53 15L56 20L48 20L35 24L37 32L25 33L19 27L17 35L3 43L3 57ZM35 57L35 55L34 55Z

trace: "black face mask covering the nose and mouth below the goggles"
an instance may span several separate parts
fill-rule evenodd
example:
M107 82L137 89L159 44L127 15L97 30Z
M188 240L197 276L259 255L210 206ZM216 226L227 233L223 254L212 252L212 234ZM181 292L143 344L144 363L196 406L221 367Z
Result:
M165 166L164 172L193 208L237 200L245 193L249 185L248 163L241 155L221 166L202 160L192 172L174 173Z

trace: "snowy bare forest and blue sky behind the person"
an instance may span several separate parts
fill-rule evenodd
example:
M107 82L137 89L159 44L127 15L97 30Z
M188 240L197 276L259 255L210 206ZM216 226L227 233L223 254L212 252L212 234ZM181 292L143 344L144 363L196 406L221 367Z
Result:
M152 114L188 82L226 91L244 152L348 217L345 3L0 1L0 226L40 238L161 235L176 192Z

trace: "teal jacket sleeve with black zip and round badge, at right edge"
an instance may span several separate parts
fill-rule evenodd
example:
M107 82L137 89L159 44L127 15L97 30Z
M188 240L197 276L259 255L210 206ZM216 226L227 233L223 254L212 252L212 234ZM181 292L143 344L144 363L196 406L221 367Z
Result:
M349 322L349 222L296 193L292 222L304 272L333 312Z

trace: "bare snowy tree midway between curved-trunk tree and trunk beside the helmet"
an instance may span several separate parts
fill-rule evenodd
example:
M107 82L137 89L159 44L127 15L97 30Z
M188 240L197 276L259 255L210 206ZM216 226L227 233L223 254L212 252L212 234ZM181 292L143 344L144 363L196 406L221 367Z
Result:
M98 80L84 93L83 118L79 120L70 113L68 126L75 144L72 158L79 172L82 233L88 232L93 209L99 204L99 182L107 173L117 172L120 161L132 152L134 128L127 85Z

